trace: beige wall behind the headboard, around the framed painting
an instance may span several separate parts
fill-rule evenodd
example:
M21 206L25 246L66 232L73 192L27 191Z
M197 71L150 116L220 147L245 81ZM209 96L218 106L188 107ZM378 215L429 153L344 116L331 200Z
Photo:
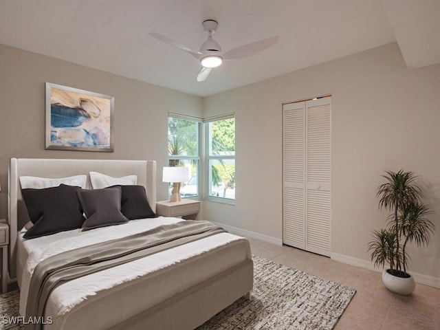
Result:
M114 96L114 153L45 150L45 82ZM0 217L9 158L156 159L159 173L167 164L168 111L201 117L202 105L197 96L0 45ZM157 198L166 199L157 178Z

